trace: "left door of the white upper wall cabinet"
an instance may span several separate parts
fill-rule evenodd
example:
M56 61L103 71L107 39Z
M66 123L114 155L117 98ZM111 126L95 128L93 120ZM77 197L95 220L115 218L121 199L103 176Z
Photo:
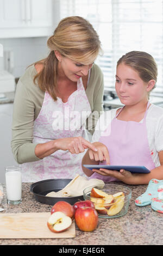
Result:
M0 28L23 27L26 23L25 0L0 0Z

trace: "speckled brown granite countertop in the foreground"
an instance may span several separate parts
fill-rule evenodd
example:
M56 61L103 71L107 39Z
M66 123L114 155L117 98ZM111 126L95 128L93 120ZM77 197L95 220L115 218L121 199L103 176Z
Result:
M123 184L112 182L112 184ZM52 206L36 202L31 183L22 184L22 203L8 205L5 184L4 197L0 208L3 213L50 212ZM139 207L135 199L146 191L146 185L127 185L132 196L126 215L118 218L99 218L98 227L92 232L80 231L76 225L76 237L67 239L0 239L0 245L163 245L163 214L152 210L151 206Z

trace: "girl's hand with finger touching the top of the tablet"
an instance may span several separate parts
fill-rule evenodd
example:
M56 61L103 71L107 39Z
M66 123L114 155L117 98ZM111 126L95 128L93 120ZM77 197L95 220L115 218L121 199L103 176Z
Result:
M89 148L88 153L91 160L95 161L106 161L106 164L110 164L110 157L108 148L101 142L92 143L97 151Z

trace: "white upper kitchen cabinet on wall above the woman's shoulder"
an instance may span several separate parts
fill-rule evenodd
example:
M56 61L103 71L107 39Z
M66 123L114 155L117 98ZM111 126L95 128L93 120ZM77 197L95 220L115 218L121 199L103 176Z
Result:
M0 0L0 38L52 33L52 0Z

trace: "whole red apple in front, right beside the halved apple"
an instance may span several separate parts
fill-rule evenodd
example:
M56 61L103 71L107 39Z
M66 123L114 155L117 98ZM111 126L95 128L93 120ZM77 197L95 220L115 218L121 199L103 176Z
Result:
M98 224L97 211L91 207L78 208L74 218L78 228L82 231L93 231Z

